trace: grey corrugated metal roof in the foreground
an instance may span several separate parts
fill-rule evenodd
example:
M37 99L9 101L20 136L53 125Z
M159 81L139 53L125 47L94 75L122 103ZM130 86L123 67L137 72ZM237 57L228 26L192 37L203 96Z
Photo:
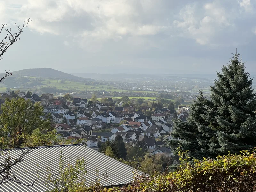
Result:
M18 158L24 150L26 148L12 149L9 150L10 154L7 153L6 156ZM13 166L12 169L17 170L16 176L20 178L20 182L22 183L31 184L35 180L38 181L33 186L25 186L9 181L0 185L0 191L45 192L49 188L44 184L44 174L38 172L38 169L46 172L46 168L50 164L53 174L58 174L60 151L63 152L64 158L66 159L65 163L67 164L75 164L78 158L84 157L87 171L85 179L88 186L97 178L100 179L99 182L102 186L121 185L130 183L133 180L134 172L139 175L143 174L143 172L136 171L134 168L105 156L83 144L36 147L30 153L27 153L25 159ZM3 162L3 160L1 158L0 162ZM96 169L98 169L98 177L96 175ZM106 176L104 176L106 173L108 181L106 181Z

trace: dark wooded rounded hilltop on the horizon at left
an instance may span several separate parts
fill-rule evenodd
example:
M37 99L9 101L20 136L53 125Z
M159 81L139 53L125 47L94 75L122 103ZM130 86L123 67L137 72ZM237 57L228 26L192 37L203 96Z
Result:
M42 78L60 78L60 79L71 79L71 80L87 80L95 81L91 78L81 78L78 76L63 73L61 71L52 68L33 68L33 69L22 69L19 71L11 71L13 76L31 76L31 77L42 77Z

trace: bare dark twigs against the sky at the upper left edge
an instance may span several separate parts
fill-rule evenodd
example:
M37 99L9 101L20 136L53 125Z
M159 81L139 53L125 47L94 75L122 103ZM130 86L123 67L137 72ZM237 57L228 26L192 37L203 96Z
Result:
M20 38L20 34L23 32L23 29L28 27L28 23L30 22L31 20L28 19L26 21L23 22L23 26L20 27L20 25L17 25L15 23L15 26L18 28L18 32L12 32L12 29L9 28L9 29L5 29L5 31L7 32L6 35L4 36L4 38L2 40L0 40L0 60L4 59L3 58L3 55L4 53L6 52L6 50L16 41L19 41ZM7 24L3 24L2 23L2 28L0 29L0 34L2 32L4 32L4 27L6 26ZM9 42L8 42L9 41ZM12 73L10 73L10 70L9 71L5 71L6 74L0 78L0 82L4 83L4 81L6 80L5 78L8 77L8 76L11 76Z

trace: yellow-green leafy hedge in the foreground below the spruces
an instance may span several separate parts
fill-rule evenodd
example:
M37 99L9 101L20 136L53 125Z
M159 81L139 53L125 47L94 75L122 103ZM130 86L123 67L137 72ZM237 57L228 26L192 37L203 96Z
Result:
M141 176L122 188L80 188L79 192L252 192L256 189L256 149L238 155L217 156L189 162L180 152L180 167L166 175Z

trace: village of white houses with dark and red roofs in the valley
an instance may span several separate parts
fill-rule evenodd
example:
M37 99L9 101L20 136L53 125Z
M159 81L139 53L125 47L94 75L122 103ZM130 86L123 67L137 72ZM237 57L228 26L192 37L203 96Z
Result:
M11 95L9 91L1 93L2 98ZM173 114L167 107L134 107L127 104L124 107L124 101L100 103L95 100L92 103L81 98L69 101L64 97L53 98L52 94L39 96L34 93L28 96L20 92L17 95L34 103L41 102L45 115L50 113L52 116L52 127L63 139L83 139L88 147L98 150L101 143L121 135L124 142L131 146L138 141L145 142L150 155L160 153L173 156L168 146L168 140L174 139L170 134L173 131ZM186 121L189 110L189 107L179 106L177 118ZM146 116L146 112L151 115Z

